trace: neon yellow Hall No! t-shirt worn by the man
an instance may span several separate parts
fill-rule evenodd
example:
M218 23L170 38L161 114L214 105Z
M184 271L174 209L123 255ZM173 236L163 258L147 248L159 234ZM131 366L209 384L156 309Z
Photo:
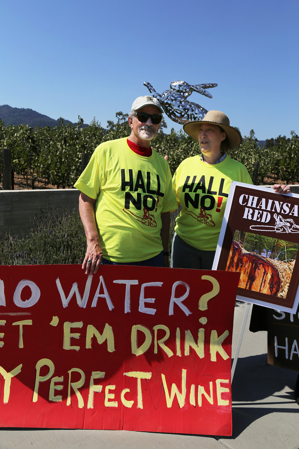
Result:
M95 219L103 256L138 262L158 255L161 212L177 208L167 161L152 150L134 153L127 138L99 145L74 185L96 199Z

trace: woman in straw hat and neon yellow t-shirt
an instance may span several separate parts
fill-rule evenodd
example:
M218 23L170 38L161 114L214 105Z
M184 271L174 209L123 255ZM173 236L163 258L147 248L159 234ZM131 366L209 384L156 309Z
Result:
M243 164L226 151L242 142L228 117L211 110L203 120L186 122L184 131L199 141L201 154L185 159L173 176L178 205L182 206L173 237L173 268L212 269L231 181L252 184ZM277 193L289 186L274 185Z

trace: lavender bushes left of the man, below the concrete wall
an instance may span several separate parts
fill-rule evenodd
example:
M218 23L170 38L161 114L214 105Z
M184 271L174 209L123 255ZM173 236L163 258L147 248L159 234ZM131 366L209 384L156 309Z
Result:
M23 238L0 234L2 265L81 264L86 237L78 211L55 208L35 216L30 234Z

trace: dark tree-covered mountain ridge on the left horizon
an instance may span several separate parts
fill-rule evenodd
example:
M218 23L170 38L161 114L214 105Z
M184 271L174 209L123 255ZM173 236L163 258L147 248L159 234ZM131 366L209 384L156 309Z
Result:
M28 125L35 128L37 125L39 127L46 126L59 126L60 119L54 120L48 115L40 114L29 108L13 108L9 105L0 106L0 119L3 120L5 126L9 125ZM70 120L63 119L64 123L71 123L76 126L76 123L72 123ZM85 128L87 125L83 125Z

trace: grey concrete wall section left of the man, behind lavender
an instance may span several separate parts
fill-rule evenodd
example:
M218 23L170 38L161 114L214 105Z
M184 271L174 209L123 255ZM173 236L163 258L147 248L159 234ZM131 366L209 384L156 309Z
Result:
M77 189L0 190L0 232L11 235L28 235L30 220L40 215L39 208L47 207L72 211L78 207L80 192Z

